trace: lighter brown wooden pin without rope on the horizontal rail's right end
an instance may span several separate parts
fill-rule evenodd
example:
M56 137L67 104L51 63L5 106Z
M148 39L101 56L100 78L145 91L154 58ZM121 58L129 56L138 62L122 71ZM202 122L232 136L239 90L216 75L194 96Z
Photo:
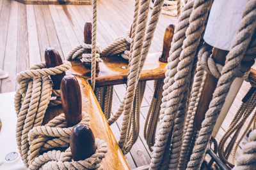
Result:
M174 29L175 29L175 26L173 24L168 25L165 29L164 41L163 41L163 52L159 57L159 61L161 62L167 62L168 60L169 52L171 49L172 38L174 34Z

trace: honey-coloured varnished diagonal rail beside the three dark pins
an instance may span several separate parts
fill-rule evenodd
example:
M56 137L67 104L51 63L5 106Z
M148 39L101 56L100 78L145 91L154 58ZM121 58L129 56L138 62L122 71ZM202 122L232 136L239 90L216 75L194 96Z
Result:
M129 169L90 84L87 80L84 80L84 78L76 78L81 88L82 111L85 111L90 115L90 128L92 129L95 138L102 139L108 145L108 153L106 153L106 157L102 160L104 169ZM45 113L43 124L49 122L49 120L56 115L60 115L60 113L63 113L61 106L48 108Z

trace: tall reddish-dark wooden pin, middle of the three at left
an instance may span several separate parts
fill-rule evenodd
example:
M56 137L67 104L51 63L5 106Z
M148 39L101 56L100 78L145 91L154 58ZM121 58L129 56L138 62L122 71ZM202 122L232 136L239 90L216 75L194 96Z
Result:
M73 75L64 76L61 81L61 103L67 127L78 124L82 120L82 102L79 83Z

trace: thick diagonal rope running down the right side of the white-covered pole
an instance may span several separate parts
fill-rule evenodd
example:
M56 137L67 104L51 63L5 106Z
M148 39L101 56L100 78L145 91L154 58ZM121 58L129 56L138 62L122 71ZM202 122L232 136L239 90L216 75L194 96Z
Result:
M216 119L224 104L225 97L234 78L239 71L239 65L243 59L244 53L252 39L256 26L256 1L248 1L244 8L243 18L236 32L236 38L232 41L232 48L227 55L225 66L221 71L221 77L218 80L216 90L214 91L212 101L209 104L209 110L205 113L205 120L202 122L199 136L196 139L193 148L193 154L188 163L188 169L199 169L204 158L207 143L211 138Z

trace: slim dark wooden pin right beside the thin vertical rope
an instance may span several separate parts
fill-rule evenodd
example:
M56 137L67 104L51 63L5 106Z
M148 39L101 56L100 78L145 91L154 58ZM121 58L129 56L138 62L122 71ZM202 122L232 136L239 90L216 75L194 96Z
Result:
M86 22L84 24L84 43L92 44L92 22ZM85 53L92 53L91 49L86 49ZM92 62L83 62L87 69L91 69ZM99 72L99 62L96 62L96 71Z

